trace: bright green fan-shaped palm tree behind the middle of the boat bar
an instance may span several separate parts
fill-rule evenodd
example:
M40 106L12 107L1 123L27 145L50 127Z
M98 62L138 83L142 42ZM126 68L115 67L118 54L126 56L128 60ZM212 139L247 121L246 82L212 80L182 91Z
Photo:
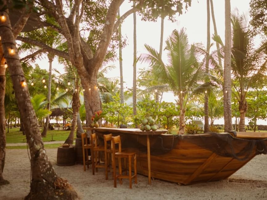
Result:
M157 80L170 86L172 92L178 96L180 106L179 133L184 133L185 108L193 94L200 96L204 90L211 91L212 83L204 83L205 73L198 62L200 51L188 44L184 29L174 30L166 41L169 63L165 65L160 54L152 47L145 45L149 54L142 54L140 60L148 62L155 69Z

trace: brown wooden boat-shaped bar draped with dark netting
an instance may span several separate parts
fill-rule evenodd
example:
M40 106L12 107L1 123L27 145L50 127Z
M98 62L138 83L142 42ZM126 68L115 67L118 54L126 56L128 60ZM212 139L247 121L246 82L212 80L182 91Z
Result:
M150 134L151 177L184 185L228 178L257 154L267 153L267 133L171 135L138 129L89 130L95 130L100 142L103 134L121 135L122 148L137 153L138 173L146 176Z

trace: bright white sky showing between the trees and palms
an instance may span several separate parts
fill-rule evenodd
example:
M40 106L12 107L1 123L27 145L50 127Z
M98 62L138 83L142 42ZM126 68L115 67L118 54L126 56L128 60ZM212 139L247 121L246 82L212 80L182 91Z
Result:
M220 35L222 41L224 42L224 32L225 32L225 1L224 0L213 0L214 14L216 20L216 27L218 35ZM120 7L120 14L124 14L127 10L131 9L132 4L125 1ZM238 8L240 13L249 11L249 0L231 0L231 10ZM188 35L189 43L202 42L206 46L207 40L207 11L206 11L206 0L192 0L191 7L188 8L186 13L183 12L182 15L176 15L177 22L172 23L167 20L164 21L164 44L168 36L172 33L172 30L180 30L182 27L186 28L186 33ZM160 19L157 22L143 22L140 16L137 14L137 56L142 53L146 53L144 44L154 47L159 50L160 45ZM212 18L210 19L210 33L214 33ZM127 46L122 50L123 58L123 81L125 82L124 87L131 88L133 82L133 15L128 16L122 24L122 35L127 37ZM211 40L211 42L213 42ZM214 49L211 49L214 50ZM119 54L119 50L117 51ZM166 54L163 52L163 60L166 63ZM42 69L49 68L49 63L47 59L43 59L38 62ZM118 77L119 78L119 61L115 63L109 63L110 65L115 65L116 69L109 72L107 77ZM140 68L147 67L145 64L137 63L137 71ZM53 68L60 70L58 62L55 60L53 62ZM61 70L60 70L61 71ZM63 73L63 70L62 70ZM138 76L138 74L137 74ZM172 94L164 94L163 100L167 102L173 102L174 96ZM234 122L234 121L233 121ZM224 124L223 120L216 121L216 123ZM246 120L246 124L248 121ZM258 124L266 124L266 121L259 120Z

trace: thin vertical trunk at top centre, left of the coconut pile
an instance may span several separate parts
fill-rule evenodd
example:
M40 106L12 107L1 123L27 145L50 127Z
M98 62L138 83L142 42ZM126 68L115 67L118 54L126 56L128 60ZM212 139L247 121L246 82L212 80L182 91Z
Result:
M133 7L135 8L136 2L133 1ZM134 21L134 61L133 61L133 115L136 116L136 12L133 13ZM137 124L135 124L137 128Z

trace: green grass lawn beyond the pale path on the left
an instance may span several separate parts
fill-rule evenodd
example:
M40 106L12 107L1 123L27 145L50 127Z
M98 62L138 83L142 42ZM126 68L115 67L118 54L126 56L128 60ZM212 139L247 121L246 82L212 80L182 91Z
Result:
M42 130L41 130L42 132ZM70 130L48 130L47 137L42 138L43 142L51 141L53 135L53 141L65 141L70 134ZM19 128L9 129L7 133L6 128L6 143L26 143L26 136L22 134L22 131L19 131Z

